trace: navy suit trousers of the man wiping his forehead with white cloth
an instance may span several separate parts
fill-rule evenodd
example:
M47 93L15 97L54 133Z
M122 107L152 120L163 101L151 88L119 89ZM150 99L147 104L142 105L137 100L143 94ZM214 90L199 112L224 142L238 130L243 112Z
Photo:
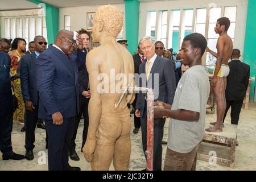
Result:
M49 136L48 169L62 171L69 166L68 151L74 133L75 117L63 118L62 125L53 125L53 121L44 119Z

